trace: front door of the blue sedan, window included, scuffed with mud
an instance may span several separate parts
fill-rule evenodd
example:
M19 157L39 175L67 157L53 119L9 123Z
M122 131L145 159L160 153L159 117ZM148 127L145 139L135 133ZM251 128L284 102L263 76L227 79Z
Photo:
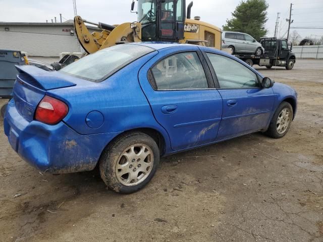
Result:
M261 88L257 74L233 58L216 53L207 56L223 99L217 140L264 129L274 106L272 88Z

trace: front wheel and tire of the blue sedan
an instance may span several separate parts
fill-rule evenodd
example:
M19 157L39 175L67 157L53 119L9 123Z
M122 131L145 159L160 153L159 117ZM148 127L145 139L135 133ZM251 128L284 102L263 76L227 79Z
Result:
M269 128L265 134L275 139L284 137L291 127L292 120L292 105L288 102L282 102L276 109Z

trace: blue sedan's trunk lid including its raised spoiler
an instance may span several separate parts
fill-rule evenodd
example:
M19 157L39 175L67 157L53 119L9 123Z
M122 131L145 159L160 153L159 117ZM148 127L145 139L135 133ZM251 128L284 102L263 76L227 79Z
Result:
M15 82L13 98L18 112L30 122L34 119L36 107L47 90L76 85L58 72L47 72L33 66L16 66L16 68L19 74Z

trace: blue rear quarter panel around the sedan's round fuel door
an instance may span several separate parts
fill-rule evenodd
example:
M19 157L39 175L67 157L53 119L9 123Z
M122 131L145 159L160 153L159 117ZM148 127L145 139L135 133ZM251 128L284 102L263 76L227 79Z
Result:
M69 106L64 122L82 135L119 133L138 128L151 128L169 138L166 131L156 123L149 103L143 94L138 71L157 51L149 53L129 64L100 83L51 90L51 96L63 99ZM103 124L92 129L86 124L91 111L102 113ZM167 145L167 144L166 144Z

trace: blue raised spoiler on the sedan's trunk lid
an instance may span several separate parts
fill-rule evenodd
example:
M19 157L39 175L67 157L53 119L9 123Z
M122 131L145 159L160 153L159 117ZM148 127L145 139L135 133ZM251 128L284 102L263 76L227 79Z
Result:
M35 66L15 66L19 73L27 74L44 90L76 86L67 81L66 76L59 72L48 72ZM18 74L19 75L19 74Z

